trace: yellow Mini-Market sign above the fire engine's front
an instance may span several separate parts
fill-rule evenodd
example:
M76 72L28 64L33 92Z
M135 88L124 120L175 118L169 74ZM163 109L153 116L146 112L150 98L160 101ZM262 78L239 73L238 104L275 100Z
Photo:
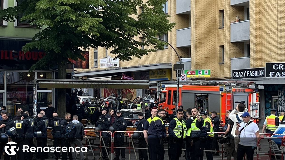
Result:
M149 71L150 81L168 81L170 80L171 70L170 69L159 69Z

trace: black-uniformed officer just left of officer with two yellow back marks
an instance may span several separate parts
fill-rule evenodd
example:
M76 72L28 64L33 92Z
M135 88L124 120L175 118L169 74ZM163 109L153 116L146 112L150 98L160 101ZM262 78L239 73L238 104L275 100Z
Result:
M39 113L38 114L38 119L37 119L37 125L36 127L34 128L34 130L36 132L38 131L41 131L42 134L40 135L41 137L37 137L36 138L36 144L37 144L37 147L42 147L44 148L44 138L46 138L46 129L45 129L45 126L46 126L46 122L44 121L44 118L43 118L43 114L42 113ZM44 160L45 159L45 155L42 154L41 150L39 151L38 153L38 157L40 160Z

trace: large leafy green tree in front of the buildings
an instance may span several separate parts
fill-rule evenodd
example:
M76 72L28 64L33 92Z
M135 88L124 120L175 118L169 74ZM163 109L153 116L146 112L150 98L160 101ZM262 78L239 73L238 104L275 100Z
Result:
M65 79L68 58L84 59L81 48L96 46L113 48L111 54L122 61L141 58L149 52L163 49L164 42L153 37L174 27L162 10L166 0L25 0L19 6L0 11L0 19L14 21L25 15L31 25L43 29L23 47L44 50L46 56L31 70L58 65L58 78ZM143 7L138 15L137 8ZM143 36L144 41L135 40ZM151 46L141 50L139 46ZM65 89L58 90L58 112L65 112Z

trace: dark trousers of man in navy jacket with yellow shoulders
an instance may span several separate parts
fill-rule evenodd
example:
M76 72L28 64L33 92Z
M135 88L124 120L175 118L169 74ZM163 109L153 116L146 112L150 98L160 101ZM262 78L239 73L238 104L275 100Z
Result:
M163 160L164 159L164 147L160 145L160 140L157 136L150 135L147 139L149 146L150 160Z

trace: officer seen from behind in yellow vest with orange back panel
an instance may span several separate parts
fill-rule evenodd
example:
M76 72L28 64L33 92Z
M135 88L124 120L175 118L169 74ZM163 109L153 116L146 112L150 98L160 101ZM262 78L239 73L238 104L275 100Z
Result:
M274 131L277 129L276 123L277 123L277 119L279 122L279 118L277 116L275 116L276 109L275 108L271 109L270 113L271 113L271 115L267 116L265 118L264 123L263 123L262 133L264 133L264 130L266 129L265 130L266 133L273 134Z

